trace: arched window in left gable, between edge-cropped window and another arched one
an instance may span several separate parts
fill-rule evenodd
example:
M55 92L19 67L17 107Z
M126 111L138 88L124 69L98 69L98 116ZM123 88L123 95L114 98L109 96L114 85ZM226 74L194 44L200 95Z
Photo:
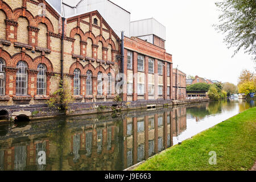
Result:
M16 96L27 95L27 64L24 61L19 61L16 68Z

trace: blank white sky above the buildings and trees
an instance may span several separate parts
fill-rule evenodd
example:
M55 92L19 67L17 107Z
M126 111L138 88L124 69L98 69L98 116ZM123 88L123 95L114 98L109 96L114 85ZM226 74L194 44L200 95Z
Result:
M187 75L237 84L242 69L254 71L251 56L223 43L224 35L212 25L218 23L216 0L110 0L131 13L131 21L154 17L166 26L166 50L174 68Z

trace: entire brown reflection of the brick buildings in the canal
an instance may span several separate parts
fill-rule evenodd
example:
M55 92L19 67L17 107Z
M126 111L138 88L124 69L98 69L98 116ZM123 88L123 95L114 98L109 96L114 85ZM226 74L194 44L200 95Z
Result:
M187 126L185 107L132 111L124 119L87 117L7 132L0 170L122 170L171 147Z

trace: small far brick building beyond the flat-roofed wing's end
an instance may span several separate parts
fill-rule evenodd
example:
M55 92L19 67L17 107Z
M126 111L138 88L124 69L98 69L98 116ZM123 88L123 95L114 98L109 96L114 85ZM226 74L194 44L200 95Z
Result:
M186 74L181 72L179 69L173 69L172 73L172 92L174 96L174 100L184 100L186 98Z

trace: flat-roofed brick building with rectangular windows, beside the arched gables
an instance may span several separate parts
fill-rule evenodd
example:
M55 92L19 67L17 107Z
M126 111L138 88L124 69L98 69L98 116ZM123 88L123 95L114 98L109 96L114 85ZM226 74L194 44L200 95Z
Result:
M124 101L170 100L172 55L139 38L125 37ZM126 92L127 91L127 92Z

